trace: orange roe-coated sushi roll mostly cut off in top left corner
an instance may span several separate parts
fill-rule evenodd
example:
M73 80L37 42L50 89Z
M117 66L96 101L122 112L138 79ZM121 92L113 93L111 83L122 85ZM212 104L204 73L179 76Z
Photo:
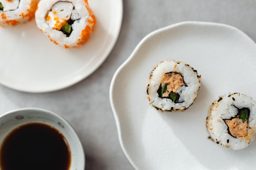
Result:
M34 18L39 0L0 0L0 26L15 26Z

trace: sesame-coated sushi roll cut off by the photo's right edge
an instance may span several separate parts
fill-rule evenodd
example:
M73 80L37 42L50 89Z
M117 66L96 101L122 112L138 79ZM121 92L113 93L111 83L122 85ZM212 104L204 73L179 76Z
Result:
M249 146L255 138L256 106L251 97L234 93L213 102L206 119L210 138L230 149Z

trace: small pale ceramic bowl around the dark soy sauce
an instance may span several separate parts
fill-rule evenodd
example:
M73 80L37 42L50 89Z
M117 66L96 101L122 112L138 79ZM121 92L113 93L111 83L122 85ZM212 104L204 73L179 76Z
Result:
M20 108L0 115L0 146L15 128L28 123L43 123L62 133L71 151L69 170L85 169L85 153L72 126L60 115L41 108Z

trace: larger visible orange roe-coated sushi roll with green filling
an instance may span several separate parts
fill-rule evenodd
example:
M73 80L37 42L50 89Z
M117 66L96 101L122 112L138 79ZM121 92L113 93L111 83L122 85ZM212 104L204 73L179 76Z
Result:
M65 48L84 44L96 23L87 0L41 0L35 18L38 28Z

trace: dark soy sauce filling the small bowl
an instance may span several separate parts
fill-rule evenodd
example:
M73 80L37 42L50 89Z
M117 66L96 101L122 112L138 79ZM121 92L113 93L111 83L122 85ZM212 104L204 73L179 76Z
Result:
M0 150L2 170L68 170L70 148L55 128L29 123L14 129Z

